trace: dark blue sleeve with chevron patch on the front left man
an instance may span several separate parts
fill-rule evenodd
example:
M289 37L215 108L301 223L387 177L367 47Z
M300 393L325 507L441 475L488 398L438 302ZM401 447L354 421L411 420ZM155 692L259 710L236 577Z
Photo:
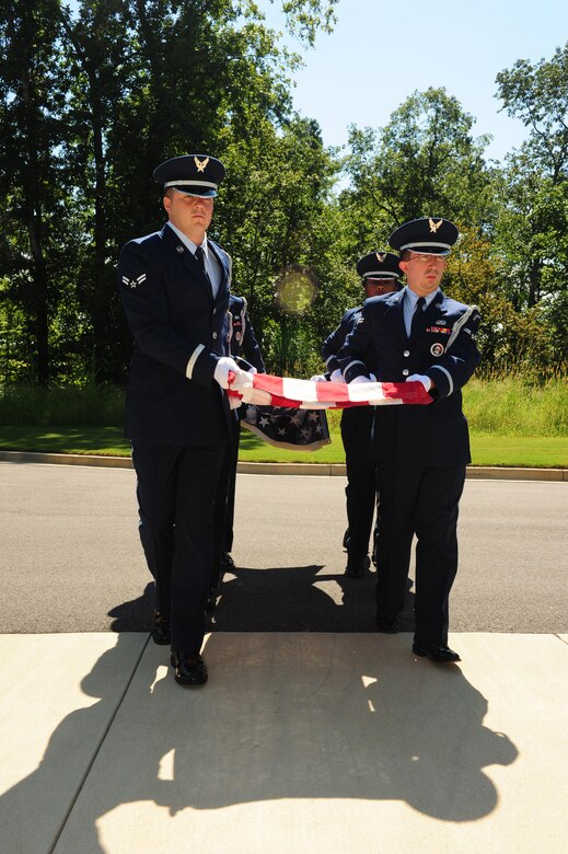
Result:
M159 258L137 241L118 261L118 288L130 332L140 349L201 385L210 385L220 354L175 328L166 302Z

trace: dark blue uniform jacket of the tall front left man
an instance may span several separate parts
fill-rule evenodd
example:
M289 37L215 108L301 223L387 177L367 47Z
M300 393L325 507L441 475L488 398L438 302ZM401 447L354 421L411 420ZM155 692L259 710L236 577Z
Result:
M231 258L211 240L208 245L221 269L215 299L167 224L120 253L118 288L135 338L126 436L135 441L212 447L227 440L229 406L213 372L227 351Z

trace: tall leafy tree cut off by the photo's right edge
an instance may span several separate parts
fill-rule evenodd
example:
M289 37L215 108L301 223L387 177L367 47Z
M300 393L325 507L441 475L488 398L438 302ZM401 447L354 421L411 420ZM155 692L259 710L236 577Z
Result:
M510 116L530 129L507 158L494 251L518 311L540 307L559 361L568 358L568 45L550 60L520 59L497 76Z

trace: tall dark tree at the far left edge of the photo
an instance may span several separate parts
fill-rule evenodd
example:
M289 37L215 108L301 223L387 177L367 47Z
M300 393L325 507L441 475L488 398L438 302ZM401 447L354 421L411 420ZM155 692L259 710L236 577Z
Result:
M27 376L45 383L62 290L68 81L56 0L0 8L0 309L4 338L22 348Z

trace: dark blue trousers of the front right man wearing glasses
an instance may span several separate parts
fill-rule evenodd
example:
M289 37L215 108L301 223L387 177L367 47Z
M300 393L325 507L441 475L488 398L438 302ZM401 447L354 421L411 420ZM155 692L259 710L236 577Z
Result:
M381 496L376 540L376 609L404 610L416 534L415 641L447 646L449 596L457 572L457 510L465 466L376 464Z

